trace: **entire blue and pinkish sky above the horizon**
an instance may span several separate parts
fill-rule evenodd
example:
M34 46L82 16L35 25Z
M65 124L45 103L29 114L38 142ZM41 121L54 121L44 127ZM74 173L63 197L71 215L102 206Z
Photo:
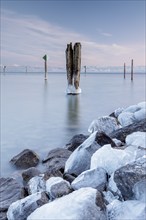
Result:
M145 0L1 0L1 65L64 68L68 43L82 66L145 64Z

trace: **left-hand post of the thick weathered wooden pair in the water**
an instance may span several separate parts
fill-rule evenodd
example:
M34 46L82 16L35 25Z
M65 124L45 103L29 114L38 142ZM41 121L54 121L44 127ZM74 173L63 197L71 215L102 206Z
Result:
M72 43L67 44L66 48L66 70L68 85L73 85L73 49Z

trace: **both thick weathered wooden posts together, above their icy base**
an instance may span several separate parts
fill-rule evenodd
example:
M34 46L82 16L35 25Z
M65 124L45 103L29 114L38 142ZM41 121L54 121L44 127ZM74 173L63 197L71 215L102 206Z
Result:
M68 85L74 85L75 89L79 88L80 70L81 70L81 44L67 44L66 49L66 70Z

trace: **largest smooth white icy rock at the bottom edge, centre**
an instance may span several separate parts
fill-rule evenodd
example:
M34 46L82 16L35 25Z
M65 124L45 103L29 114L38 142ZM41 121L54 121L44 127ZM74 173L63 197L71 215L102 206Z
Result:
M99 201L101 201L100 204ZM102 208L104 203L102 201L102 196L100 195L99 197L99 192L96 189L82 188L38 208L27 220L106 220L105 211Z

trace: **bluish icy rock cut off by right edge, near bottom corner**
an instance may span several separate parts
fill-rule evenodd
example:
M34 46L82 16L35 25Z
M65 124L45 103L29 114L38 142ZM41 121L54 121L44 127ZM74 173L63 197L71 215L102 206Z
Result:
M137 182L133 187L133 197L146 203L146 179Z

